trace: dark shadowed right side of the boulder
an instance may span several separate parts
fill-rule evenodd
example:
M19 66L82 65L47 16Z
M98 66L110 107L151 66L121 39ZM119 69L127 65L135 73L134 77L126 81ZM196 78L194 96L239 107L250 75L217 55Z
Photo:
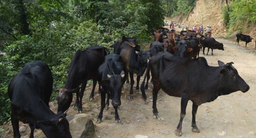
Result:
M81 134L80 138L92 138L95 134L95 126L92 120L88 120L85 124L85 130Z

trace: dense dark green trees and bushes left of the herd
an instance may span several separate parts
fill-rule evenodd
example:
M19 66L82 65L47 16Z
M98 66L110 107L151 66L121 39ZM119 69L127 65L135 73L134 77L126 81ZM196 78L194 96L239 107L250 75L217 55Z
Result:
M159 0L1 0L0 123L10 116L7 87L31 61L47 63L63 87L74 52L108 46L123 35L140 44L163 25ZM55 97L53 92L52 98Z

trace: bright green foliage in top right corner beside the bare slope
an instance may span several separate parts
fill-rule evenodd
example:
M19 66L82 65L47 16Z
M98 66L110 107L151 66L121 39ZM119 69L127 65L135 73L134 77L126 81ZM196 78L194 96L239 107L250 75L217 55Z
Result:
M256 23L255 0L229 1L223 8L223 18L228 31L247 31Z

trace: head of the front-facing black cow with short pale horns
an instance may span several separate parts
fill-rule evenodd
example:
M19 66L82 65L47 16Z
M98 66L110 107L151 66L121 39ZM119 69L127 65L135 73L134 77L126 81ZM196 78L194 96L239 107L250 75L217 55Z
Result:
M108 88L107 93L112 98L112 105L118 107L121 105L121 91L125 81L124 71L121 71L120 75L107 75L107 77L107 79L100 81L99 85Z

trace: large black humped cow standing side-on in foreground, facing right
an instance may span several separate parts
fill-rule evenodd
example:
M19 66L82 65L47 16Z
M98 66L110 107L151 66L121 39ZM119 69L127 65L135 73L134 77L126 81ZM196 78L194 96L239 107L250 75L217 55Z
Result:
M211 67L208 66L204 57L187 59L173 56L168 52L152 56L149 66L154 86L154 118L158 118L156 100L158 91L162 89L170 96L181 97L181 116L175 135L182 135L182 121L186 115L188 100L193 102L192 132L199 133L195 123L198 106L205 102L214 101L220 95L227 95L236 91L246 92L250 89L232 66L233 62L224 64L218 61L218 63L219 67ZM211 77L208 77L209 74Z

